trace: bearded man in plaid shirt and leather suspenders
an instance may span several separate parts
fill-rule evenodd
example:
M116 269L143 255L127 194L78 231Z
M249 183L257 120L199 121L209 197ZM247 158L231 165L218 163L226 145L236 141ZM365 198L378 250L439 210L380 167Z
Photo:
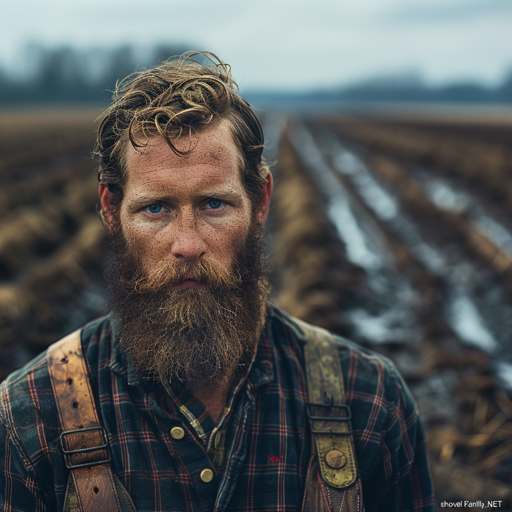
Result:
M115 507L138 512L362 510L361 486L367 511L434 510L421 423L389 360L326 342L335 360L316 369L337 365L340 377L318 408L347 429L311 428L335 422L308 418L318 392L308 332L329 335L267 304L261 228L272 176L261 126L229 67L193 57L122 82L103 116L111 312L76 335L75 352L65 340L3 383L4 510L108 509L109 478ZM79 359L86 377L58 373ZM336 405L345 395L353 443ZM328 447L326 466L316 452L327 438L347 451ZM352 494L328 483L347 459Z

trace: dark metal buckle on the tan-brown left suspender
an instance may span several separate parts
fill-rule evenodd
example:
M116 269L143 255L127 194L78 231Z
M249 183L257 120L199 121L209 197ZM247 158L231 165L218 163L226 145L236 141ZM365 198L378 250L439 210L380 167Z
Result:
M98 444L97 446L87 446L90 444L92 439L94 438L94 432L101 434L101 441L102 444ZM89 434L91 433L91 434ZM71 438L73 436L77 437L74 440L73 439L67 439L68 437ZM78 448L75 450L69 450L67 446L69 447L70 443L73 445L83 445L85 444L86 447ZM109 441L106 437L105 429L102 426L92 426L89 429L79 429L79 430L68 430L65 432L62 432L60 434L60 445L62 446L62 452L64 454L64 461L66 463L66 467L68 470L76 470L79 467L90 467L90 466L97 466L99 464L107 464L112 460L112 455L109 450ZM80 462L73 464L71 462L72 457L76 456L77 454L88 454L90 452L96 452L98 450L101 450L104 452L104 457L95 459L95 460L87 460L89 457L79 457L79 460L86 459L86 462ZM94 457L94 454L91 454L91 456Z

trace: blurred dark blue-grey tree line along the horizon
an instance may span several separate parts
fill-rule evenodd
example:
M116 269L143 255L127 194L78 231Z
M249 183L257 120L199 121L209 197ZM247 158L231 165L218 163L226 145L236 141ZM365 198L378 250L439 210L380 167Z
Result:
M146 52L125 45L114 49L78 50L70 46L33 46L14 75L0 68L0 104L101 102L112 97L116 82L157 65L188 48L162 45ZM478 82L427 86L420 79L377 77L349 86L308 92L248 91L250 101L452 101L512 102L512 73L496 87Z

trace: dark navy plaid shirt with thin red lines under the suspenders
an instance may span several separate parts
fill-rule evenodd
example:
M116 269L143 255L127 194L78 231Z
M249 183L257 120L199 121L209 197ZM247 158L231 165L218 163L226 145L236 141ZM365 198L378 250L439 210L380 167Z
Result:
M236 393L225 434L222 473L168 394L140 379L126 361L107 316L82 330L93 394L112 450L112 466L138 512L301 510L311 435L304 338L284 313L269 308L258 351ZM366 511L435 510L421 422L392 362L339 345L355 455ZM164 398L166 397L166 398ZM43 353L0 388L0 507L62 510L68 471ZM182 439L171 429L181 426Z

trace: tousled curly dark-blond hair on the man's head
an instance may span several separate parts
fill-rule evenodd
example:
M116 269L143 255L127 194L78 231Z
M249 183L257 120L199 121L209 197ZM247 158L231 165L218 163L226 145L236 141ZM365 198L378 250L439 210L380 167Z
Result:
M263 131L237 93L230 66L209 52L187 52L118 82L112 104L101 117L94 150L100 161L98 179L113 194L112 205L123 197L128 143L140 151L145 144L138 138L160 136L176 155L184 156L194 147L179 151L174 139L221 122L240 153L245 190L258 204L269 173L262 157Z

